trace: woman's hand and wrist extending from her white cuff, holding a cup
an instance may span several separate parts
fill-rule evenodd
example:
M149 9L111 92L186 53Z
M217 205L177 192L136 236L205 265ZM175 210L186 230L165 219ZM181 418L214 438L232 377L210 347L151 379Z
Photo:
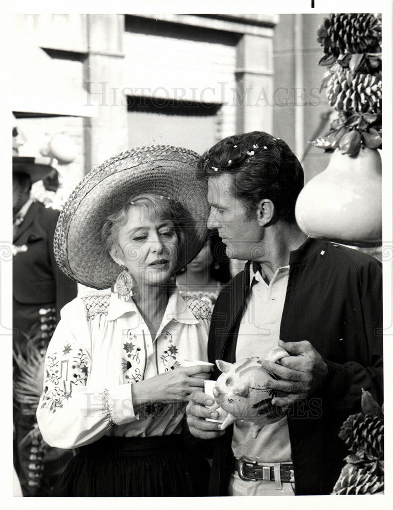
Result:
M132 385L134 411L153 402L186 402L195 390L204 387L203 380L213 369L205 365L179 367ZM198 375L202 375L197 377Z

